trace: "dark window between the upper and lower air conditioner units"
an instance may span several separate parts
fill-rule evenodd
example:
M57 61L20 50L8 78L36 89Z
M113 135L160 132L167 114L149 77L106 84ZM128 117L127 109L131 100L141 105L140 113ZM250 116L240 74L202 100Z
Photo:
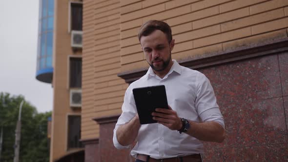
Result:
M82 58L70 58L70 88L81 88Z

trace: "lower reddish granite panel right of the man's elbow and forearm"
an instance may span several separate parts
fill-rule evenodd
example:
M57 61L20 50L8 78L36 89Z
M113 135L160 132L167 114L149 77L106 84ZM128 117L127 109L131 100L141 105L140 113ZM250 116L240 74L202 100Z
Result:
M229 104L222 110L227 134L225 142L205 142L206 148L288 142L282 98Z

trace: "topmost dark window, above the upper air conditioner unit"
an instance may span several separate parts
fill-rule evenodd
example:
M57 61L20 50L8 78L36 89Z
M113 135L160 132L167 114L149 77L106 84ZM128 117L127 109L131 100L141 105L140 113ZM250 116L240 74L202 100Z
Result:
M82 3L71 3L71 30L82 31Z

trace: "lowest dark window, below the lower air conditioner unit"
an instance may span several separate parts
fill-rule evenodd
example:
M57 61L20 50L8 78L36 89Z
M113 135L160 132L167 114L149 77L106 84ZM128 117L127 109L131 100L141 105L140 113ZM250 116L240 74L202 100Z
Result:
M81 116L80 115L69 115L68 116L68 138L67 147L80 148L82 147L81 142Z

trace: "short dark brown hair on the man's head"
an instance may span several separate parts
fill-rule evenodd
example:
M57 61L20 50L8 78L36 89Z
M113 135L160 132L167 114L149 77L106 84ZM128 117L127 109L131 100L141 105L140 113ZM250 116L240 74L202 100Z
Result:
M140 41L142 36L146 37L155 30L162 31L166 35L168 42L172 40L171 27L166 22L160 20L149 20L145 22L138 32L138 40Z

